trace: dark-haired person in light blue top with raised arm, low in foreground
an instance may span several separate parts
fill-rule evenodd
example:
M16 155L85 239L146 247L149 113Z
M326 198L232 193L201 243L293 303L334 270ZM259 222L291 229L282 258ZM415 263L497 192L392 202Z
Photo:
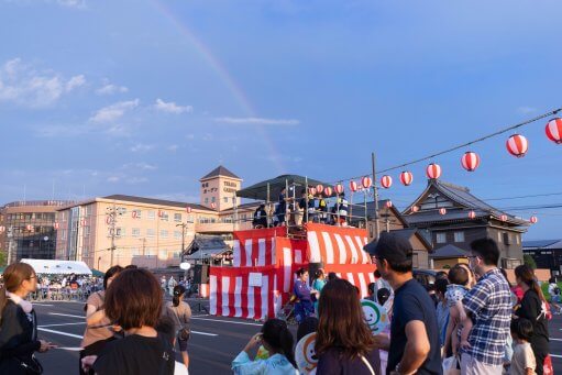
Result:
M251 351L263 345L269 353L265 360L250 360ZM298 374L293 353L293 334L280 319L269 319L260 333L254 334L244 350L232 361L236 375L295 375Z

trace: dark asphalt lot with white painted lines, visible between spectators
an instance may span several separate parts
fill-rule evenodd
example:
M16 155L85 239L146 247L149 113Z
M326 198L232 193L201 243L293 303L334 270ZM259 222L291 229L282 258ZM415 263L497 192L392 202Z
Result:
M199 312L190 300L194 318L189 341L190 374L232 374L230 363L244 348L247 340L260 330L261 323L208 316ZM45 375L70 375L78 373L78 352L85 329L84 304L34 304L37 312L40 338L60 346L37 354ZM295 333L295 332L294 332ZM551 355L554 371L562 371L562 316L550 321ZM296 333L295 333L296 335ZM178 355L178 361L180 357Z

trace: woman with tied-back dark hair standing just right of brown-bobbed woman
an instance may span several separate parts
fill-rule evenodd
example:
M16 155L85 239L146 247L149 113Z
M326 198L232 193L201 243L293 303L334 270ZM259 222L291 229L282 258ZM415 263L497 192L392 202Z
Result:
M187 354L187 341L189 340L189 321L191 320L191 308L184 301L186 288L183 285L174 287L174 297L166 304L166 315L175 323L175 339L179 344L179 352L186 367L189 367L189 355ZM174 340L174 346L175 341Z

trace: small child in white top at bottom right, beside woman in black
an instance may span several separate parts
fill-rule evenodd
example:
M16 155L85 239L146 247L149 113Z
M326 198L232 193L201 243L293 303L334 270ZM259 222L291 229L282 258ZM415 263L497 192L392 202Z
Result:
M537 361L529 343L532 337L532 323L525 318L511 320L511 337L515 349L511 357L511 375L535 375Z

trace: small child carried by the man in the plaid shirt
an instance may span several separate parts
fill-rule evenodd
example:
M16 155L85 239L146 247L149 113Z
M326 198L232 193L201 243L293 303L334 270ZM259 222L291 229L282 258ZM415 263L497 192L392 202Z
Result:
M447 286L445 299L450 309L450 323L447 327L445 352L451 343L453 355L456 355L459 346L470 346L469 334L473 326L462 304L464 296L469 293L469 273L464 267L455 265L449 271L449 283L451 284ZM460 345L459 330L461 330Z

